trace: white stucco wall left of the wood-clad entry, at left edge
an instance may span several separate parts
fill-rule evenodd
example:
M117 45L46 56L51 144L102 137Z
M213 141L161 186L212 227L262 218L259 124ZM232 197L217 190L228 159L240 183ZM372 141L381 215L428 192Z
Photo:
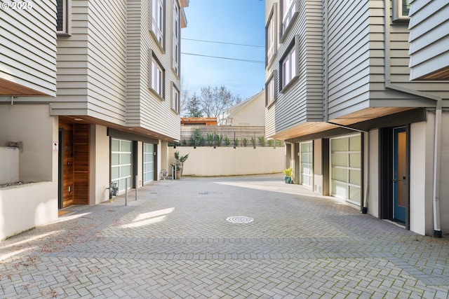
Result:
M0 239L58 219L58 118L48 104L0 106L0 144L22 141L22 186L0 189Z

